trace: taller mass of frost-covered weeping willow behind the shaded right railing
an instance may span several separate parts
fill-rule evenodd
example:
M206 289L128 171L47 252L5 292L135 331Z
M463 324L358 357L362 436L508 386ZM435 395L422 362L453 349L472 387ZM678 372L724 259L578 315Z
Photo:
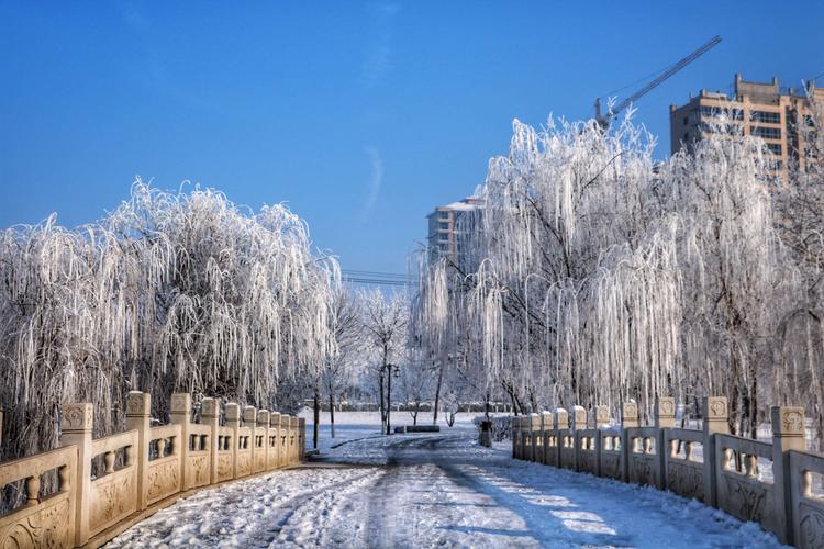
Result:
M521 410L726 394L753 433L799 396L773 357L800 278L762 144L709 138L660 165L653 146L628 119L606 133L515 121L477 191L471 271L444 258L421 277L421 346L464 357Z

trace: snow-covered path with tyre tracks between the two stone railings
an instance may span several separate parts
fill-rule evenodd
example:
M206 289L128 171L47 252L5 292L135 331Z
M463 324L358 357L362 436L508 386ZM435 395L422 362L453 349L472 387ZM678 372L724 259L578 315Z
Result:
M510 459L469 434L344 445L201 492L108 547L777 547L671 494Z

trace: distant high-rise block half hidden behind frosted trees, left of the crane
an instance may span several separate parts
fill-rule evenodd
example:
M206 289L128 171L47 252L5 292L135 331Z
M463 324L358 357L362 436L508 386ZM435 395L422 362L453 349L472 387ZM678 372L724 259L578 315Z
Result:
M435 208L426 216L428 221L427 244L430 260L438 257L449 258L461 270L471 270L466 254L466 237L471 232L481 201L466 198L459 202Z

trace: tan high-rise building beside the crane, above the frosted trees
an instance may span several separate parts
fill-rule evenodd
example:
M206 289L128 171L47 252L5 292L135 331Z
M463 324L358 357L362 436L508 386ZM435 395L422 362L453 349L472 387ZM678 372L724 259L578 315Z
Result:
M741 135L761 137L773 156L773 173L783 175L790 163L804 169L815 155L806 142L815 116L810 99L824 107L824 89L813 82L806 90L781 92L778 78L771 82L747 82L735 75L734 94L701 90L683 107L670 105L669 131L672 154L693 146L710 133L723 132L730 138ZM723 124L720 122L723 121ZM822 121L824 122L824 121Z

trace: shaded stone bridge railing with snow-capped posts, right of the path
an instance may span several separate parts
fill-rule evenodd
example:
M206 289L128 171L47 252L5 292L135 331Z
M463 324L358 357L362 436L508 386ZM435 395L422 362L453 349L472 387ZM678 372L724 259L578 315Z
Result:
M639 426L635 403L622 405L619 427L610 426L606 406L595 406L592 427L581 406L574 406L571 418L563 408L516 416L512 453L669 490L759 523L784 544L824 547L824 455L805 451L804 410L772 407L767 442L728 434L725 397L706 397L703 407L701 429L676 428L671 397L656 401L648 427Z

